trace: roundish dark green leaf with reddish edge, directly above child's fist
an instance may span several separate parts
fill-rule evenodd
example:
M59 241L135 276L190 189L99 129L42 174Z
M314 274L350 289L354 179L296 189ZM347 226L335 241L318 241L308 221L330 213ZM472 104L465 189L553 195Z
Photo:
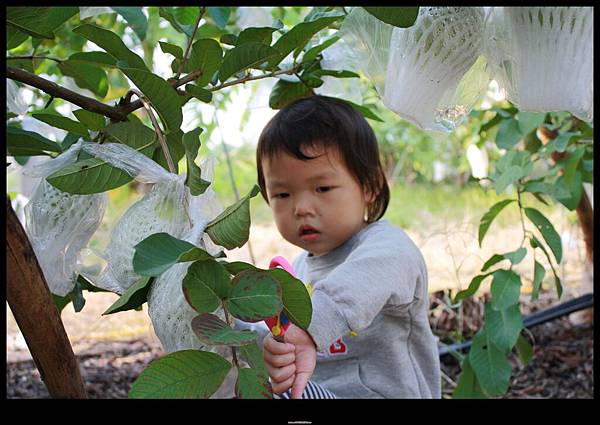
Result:
M246 270L233 278L227 310L244 322L258 322L281 312L281 287L264 271Z

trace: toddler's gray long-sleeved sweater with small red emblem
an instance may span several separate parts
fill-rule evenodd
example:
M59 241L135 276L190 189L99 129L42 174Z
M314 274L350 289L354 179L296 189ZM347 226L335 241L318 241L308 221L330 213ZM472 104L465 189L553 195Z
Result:
M312 380L338 398L440 398L427 269L403 230L371 223L327 254L304 252L294 269L313 288Z

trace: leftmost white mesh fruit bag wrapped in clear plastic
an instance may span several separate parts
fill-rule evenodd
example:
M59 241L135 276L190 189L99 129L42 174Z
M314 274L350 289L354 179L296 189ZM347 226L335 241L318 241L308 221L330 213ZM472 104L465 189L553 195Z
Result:
M77 254L100 226L107 204L106 193L76 195L46 181L50 174L75 162L84 143L78 141L58 157L23 170L40 178L24 208L25 230L50 292L59 296L75 286Z

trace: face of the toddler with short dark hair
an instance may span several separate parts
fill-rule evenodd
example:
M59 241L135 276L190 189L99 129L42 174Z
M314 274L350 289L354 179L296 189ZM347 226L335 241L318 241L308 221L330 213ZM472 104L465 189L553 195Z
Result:
M337 150L306 150L302 161L286 153L262 167L279 233L313 255L325 254L365 226L370 196L350 174Z

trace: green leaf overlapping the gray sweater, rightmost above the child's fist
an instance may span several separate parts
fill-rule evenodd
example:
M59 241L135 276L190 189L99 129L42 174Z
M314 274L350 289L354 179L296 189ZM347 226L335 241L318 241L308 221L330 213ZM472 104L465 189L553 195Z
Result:
M312 303L306 286L287 271L274 268L269 274L281 286L283 312L296 326L308 329L312 318Z

